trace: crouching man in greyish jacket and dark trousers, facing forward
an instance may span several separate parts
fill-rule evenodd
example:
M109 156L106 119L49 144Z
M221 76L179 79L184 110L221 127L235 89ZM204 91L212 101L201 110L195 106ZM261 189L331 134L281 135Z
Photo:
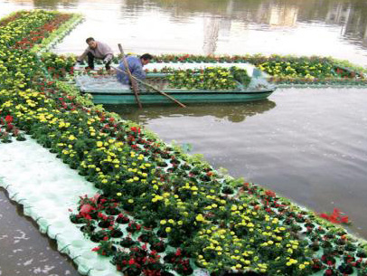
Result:
M88 57L88 66L90 70L94 70L94 59L103 61L106 70L110 69L113 58L113 52L106 43L96 42L93 37L86 39L88 48L78 57L77 62L82 63L85 57Z

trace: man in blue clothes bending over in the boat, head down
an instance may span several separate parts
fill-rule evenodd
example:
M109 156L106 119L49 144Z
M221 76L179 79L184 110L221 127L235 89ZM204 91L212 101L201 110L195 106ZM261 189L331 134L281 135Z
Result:
M146 79L146 72L143 70L143 66L149 63L153 59L153 56L149 53L145 53L140 57L129 55L127 56L127 65L131 74L139 80ZM131 84L128 79L124 61L121 61L118 65L117 77L118 81L122 84Z

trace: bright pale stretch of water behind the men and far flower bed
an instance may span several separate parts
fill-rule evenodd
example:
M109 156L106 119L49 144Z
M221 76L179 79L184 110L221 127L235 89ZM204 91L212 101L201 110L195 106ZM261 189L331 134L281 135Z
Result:
M85 14L55 52L82 52L94 36L118 52L331 55L367 65L363 0L0 0ZM82 39L81 39L82 38Z

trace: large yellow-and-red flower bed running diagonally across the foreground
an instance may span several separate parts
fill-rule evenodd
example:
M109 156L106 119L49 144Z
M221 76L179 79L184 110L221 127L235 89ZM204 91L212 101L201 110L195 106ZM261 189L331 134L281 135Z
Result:
M1 116L100 189L101 195L80 198L71 222L118 270L189 275L200 266L213 274L366 275L365 242L343 228L272 191L222 176L47 79L44 64L17 43L33 21L52 21L53 13L34 13L5 25L21 33L0 28L0 39L9 43L0 49L8 53L2 54Z

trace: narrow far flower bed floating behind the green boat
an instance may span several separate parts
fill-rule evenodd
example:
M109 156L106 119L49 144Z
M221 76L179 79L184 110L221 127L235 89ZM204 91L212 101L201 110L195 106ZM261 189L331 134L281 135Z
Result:
M203 56L163 54L155 62L249 62L266 71L278 83L334 83L353 82L365 85L365 71L350 62L325 57L295 57L270 55Z

